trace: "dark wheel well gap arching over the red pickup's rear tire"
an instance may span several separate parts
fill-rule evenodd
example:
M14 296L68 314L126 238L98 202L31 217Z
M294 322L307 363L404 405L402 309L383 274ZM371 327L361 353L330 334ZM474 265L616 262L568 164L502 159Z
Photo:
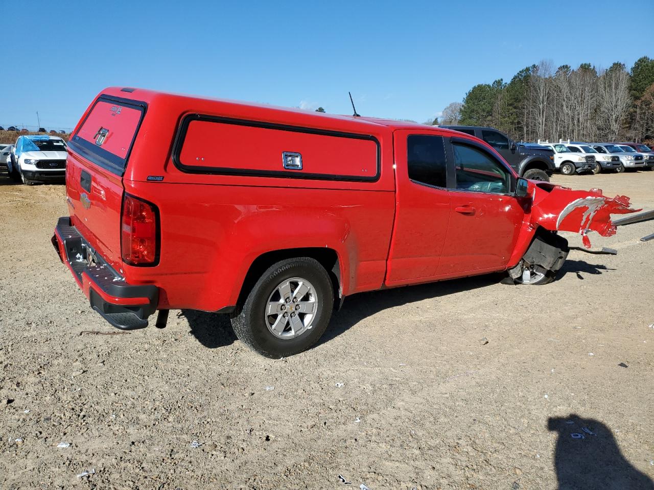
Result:
M336 250L323 247L305 247L273 250L272 252L266 252L256 257L252 265L250 265L247 274L245 274L245 280L243 280L243 286L241 286L241 293L239 293L238 304L243 304L245 298L250 293L250 289L252 289L262 274L266 272L268 267L281 260L293 259L295 257L311 257L320 262L320 265L325 268L332 280L334 299L339 303L343 296L343 291L341 289L341 265Z

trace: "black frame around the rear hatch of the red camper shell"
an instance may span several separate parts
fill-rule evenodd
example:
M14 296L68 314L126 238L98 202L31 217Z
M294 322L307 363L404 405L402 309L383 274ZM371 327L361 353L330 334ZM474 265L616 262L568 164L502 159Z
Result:
M78 137L77 135L79 130L82 129L82 126L84 126L88 116L90 116L93 112L95 105L97 105L98 102L117 103L122 106L129 106L129 108L134 108L141 111L141 118L139 119L139 123L136 125L134 136L129 143L129 149L124 159L116 157L116 155L112 154L111 152L107 152L107 150L100 148L99 146L88 142L81 137ZM71 135L71 139L68 140L68 148L84 157L84 159L91 161L98 167L101 167L102 169L105 169L112 174L116 174L117 176L122 177L126 172L129 163L129 155L131 155L131 150L134 147L134 142L136 141L136 137L139 134L139 129L141 129L141 123L143 123L143 118L145 118L145 112L147 109L148 105L143 101L134 101L132 99L124 99L122 97L115 97L114 95L107 95L103 93L97 97L97 99L95 99L91 110L88 111L88 114L86 114L84 120L78 124L75 135ZM75 140L75 138L77 138L77 140ZM122 161L123 164L120 165L116 163L118 161Z

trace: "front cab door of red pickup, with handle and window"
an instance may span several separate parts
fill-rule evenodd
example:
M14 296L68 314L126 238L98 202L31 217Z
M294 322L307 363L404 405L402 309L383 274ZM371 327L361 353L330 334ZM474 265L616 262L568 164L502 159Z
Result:
M502 270L525 216L525 200L511 193L515 175L497 155L473 140L451 138L446 149L454 182L438 276Z

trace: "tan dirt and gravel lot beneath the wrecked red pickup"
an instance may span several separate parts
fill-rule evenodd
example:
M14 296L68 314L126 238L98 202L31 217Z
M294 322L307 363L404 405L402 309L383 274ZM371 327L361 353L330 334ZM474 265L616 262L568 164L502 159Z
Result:
M555 180L654 208L654 172ZM80 335L114 329L50 244L64 195L0 178L3 489L654 488L654 221L548 286L351 297L273 361L201 312Z

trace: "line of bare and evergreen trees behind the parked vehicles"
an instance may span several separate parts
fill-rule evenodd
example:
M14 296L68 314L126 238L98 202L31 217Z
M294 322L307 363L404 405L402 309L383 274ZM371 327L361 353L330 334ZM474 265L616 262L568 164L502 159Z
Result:
M629 70L541 61L509 83L475 85L434 124L492 126L523 141L654 140L654 59L643 56Z

